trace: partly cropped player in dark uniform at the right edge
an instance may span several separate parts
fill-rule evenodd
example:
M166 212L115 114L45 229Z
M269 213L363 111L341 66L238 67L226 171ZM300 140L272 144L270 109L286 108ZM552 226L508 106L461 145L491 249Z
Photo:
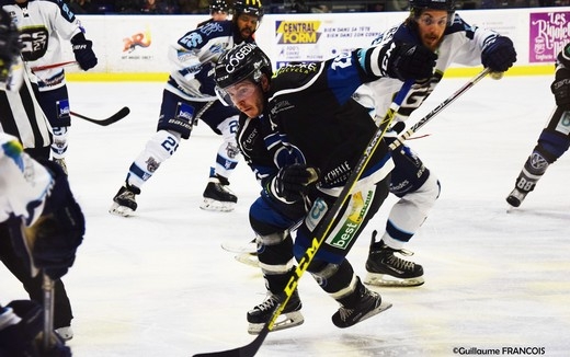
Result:
M555 95L556 108L516 177L513 191L506 197L512 207L521 206L548 166L570 147L570 44L557 56L556 74L550 90Z

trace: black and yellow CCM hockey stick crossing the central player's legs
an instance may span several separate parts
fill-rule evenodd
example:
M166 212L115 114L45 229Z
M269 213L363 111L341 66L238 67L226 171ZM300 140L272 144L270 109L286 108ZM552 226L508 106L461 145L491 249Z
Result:
M378 126L378 129L374 134L373 138L366 146L363 154L358 159L358 162L356 163L354 170L352 171L351 175L346 180L346 184L342 188L339 197L332 205L331 209L327 212L327 216L324 216L319 231L314 235L311 241L311 246L305 252L305 255L299 260L298 265L295 269L294 275L290 277L289 281L287 283L287 286L285 287L284 291L280 295L280 303L277 304L277 308L275 311L273 311L271 318L269 321L263 325L263 329L261 330L260 334L255 339L253 339L251 343L249 343L246 346L229 349L229 350L223 350L223 352L215 352L215 353L205 353L205 354L197 354L194 355L194 357L249 357L254 356L261 345L263 344L263 341L265 341L265 337L270 333L271 330L273 330L273 325L275 324L275 321L277 321L277 318L282 313L283 309L287 306L287 302L289 301L293 292L297 288L298 281L303 274L307 270L310 262L317 254L317 251L321 246L322 242L327 238L327 235L330 233L334 221L337 220L337 216L339 215L342 207L346 204L347 199L351 197L352 189L356 185L356 182L360 180L361 175L364 172L364 169L368 164L368 161L371 160L372 156L378 148L379 143L381 142L381 139L384 138L384 135L389 127L391 120L394 119L396 112L398 112L398 108L400 107L400 104L402 103L403 99L408 94L408 91L410 90L411 85L413 84L413 80L406 81L398 92L398 95L391 103L390 107L388 108L386 116L384 117L384 120Z

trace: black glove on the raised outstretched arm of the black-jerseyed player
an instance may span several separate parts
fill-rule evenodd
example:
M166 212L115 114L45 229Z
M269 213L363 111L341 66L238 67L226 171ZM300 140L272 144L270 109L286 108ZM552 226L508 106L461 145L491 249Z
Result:
M432 77L437 55L428 47L411 44L392 45L391 47L386 71L389 77L398 78L401 81Z

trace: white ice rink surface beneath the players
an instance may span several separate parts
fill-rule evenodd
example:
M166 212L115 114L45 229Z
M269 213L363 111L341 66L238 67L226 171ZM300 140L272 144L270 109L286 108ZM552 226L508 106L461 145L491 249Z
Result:
M418 119L468 79L445 79ZM305 324L272 333L259 356L454 356L454 348L544 347L570 356L570 160L551 165L520 209L506 212L526 157L547 120L551 77L483 79L409 141L442 194L407 245L423 265L417 288L375 288L394 307L356 326L330 321L337 303L309 275L300 281ZM69 83L72 110L125 119L100 127L73 118L68 168L87 216L77 262L64 277L79 357L182 357L252 341L246 312L264 297L260 273L220 243L252 238L259 188L242 162L231 177L233 212L198 208L220 143L201 123L142 187L136 217L107 214L130 162L155 131L163 83ZM316 103L317 105L317 103ZM326 104L323 104L326 105ZM349 254L364 276L369 237L390 197ZM0 269L1 301L26 298ZM471 352L471 354L474 354Z

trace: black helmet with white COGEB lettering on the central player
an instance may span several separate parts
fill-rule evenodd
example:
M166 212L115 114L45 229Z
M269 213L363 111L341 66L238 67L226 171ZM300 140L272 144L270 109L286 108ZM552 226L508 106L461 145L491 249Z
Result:
M216 84L220 89L251 79L259 83L261 76L271 78L271 60L261 48L250 43L241 43L226 51L215 67Z

